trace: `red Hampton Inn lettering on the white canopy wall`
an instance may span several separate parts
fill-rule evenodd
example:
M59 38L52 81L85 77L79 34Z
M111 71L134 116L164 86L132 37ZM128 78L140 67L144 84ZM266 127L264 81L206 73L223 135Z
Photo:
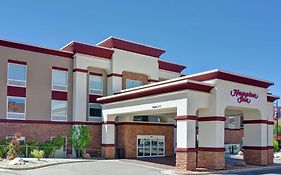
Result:
M259 98L259 95L256 93L240 91L240 89L233 89L230 91L230 95L236 98L238 103L251 103L252 100L257 100Z

